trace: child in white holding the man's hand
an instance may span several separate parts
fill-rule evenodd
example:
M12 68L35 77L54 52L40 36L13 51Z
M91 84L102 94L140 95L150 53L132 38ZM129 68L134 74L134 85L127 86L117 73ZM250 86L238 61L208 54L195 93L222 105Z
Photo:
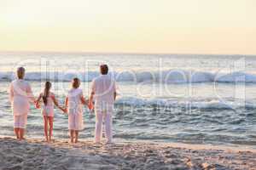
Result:
M79 88L79 86L79 78L73 78L73 88L68 91L65 101L71 143L78 143L79 141L79 131L82 130L84 126L83 105L89 104L89 102L84 99L83 90Z

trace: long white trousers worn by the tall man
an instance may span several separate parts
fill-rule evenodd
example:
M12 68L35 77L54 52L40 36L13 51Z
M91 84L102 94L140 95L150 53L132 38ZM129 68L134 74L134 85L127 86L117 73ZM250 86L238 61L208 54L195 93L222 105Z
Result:
M112 111L96 111L95 142L102 140L102 122L105 122L105 137L107 143L112 143Z

